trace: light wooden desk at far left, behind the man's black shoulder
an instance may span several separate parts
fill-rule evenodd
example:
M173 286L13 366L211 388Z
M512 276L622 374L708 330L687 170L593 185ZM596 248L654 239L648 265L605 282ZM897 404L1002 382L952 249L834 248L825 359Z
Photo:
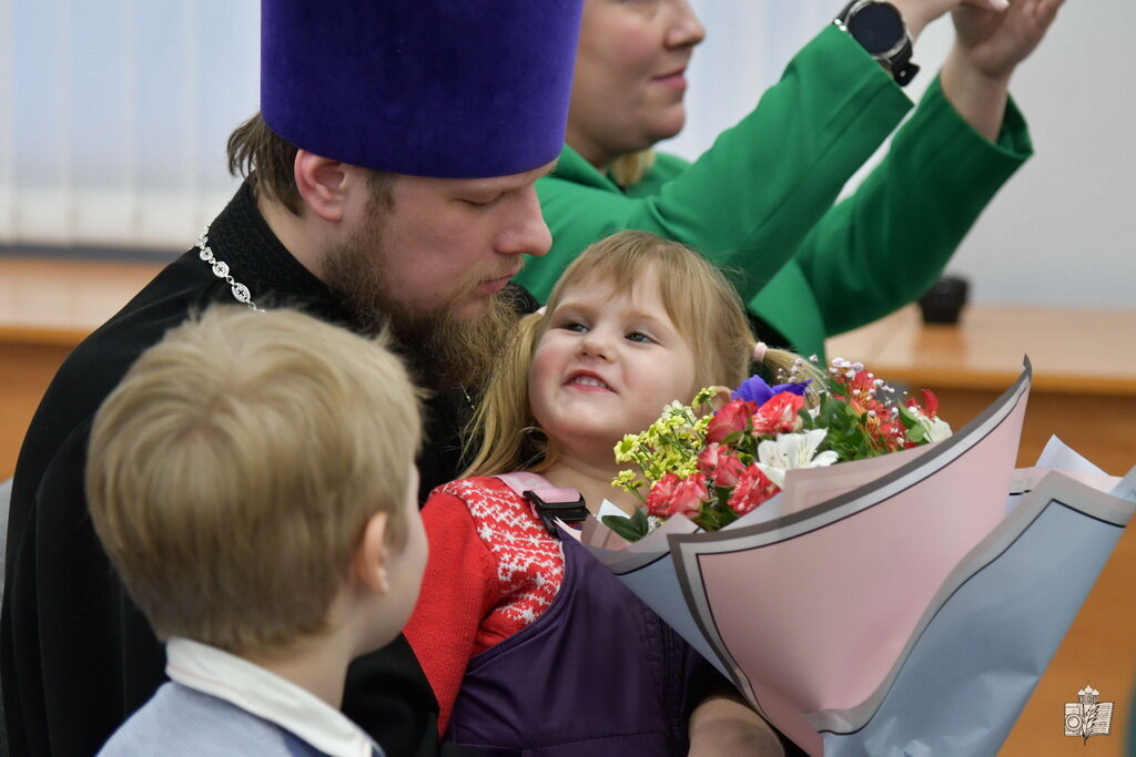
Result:
M24 432L64 359L161 268L0 258L0 480L16 470Z

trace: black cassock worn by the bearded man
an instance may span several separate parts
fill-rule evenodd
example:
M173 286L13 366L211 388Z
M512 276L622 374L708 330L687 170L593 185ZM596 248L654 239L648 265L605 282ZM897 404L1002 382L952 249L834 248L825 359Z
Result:
M211 225L209 245L258 305L348 322L335 297L269 230L248 184ZM94 535L83 470L102 399L167 329L215 302L235 300L191 250L75 348L35 413L12 487L0 629L12 755L92 755L166 680L162 646ZM523 308L533 305L529 297ZM426 407L423 495L459 473L457 431L468 401L460 392L438 393ZM437 703L402 636L352 664L343 710L390 755L459 754L438 747Z

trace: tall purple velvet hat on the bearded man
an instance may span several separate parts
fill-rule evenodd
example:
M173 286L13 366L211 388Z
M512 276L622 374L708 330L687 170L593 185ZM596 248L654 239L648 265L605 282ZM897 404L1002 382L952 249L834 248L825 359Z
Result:
M261 0L283 138L414 176L519 174L563 146L583 0Z

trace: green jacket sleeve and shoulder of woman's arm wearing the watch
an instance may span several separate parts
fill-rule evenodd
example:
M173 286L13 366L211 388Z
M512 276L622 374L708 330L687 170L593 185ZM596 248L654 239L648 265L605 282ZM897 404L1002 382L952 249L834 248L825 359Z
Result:
M650 196L624 194L566 148L556 174L537 183L552 251L518 280L543 300L585 246L630 228L693 246L749 298L910 107L859 44L827 27L753 112Z

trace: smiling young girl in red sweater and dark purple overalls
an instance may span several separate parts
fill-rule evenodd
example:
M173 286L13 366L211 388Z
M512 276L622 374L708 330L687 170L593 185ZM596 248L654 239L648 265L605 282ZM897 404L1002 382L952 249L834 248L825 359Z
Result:
M612 448L663 405L750 375L754 339L725 277L642 232L588 247L526 317L477 419L469 478L423 511L431 556L404 632L450 741L491 755L780 754L769 727L513 477L573 489L593 514ZM795 355L766 351L784 368ZM512 483L512 486L510 486ZM553 491L553 494L557 494Z

